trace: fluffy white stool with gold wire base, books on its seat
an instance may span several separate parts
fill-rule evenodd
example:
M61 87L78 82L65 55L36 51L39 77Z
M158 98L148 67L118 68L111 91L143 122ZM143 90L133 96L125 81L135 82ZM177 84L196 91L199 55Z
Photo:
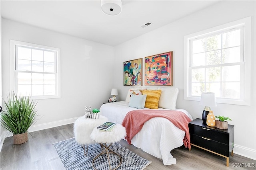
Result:
M115 143L120 141L121 139L123 139L126 136L126 130L125 128L120 125L120 124L116 124L113 129L111 131L100 131L99 129L97 129L97 127L95 127L90 135L91 139L97 143L99 143L102 147L104 147L105 149L102 150L102 152L100 152L100 154L98 154L93 160L92 160L92 167L97 170L94 167L94 160L96 160L100 155L102 154L107 154L108 157L108 164L109 164L109 168L110 170L116 170L122 163L122 158L119 154L117 154L116 152L114 152L113 150L111 150L109 147ZM110 159L109 159L109 154L116 154L119 158L120 158L120 163L118 164L118 166L114 169L112 169L111 165L110 165Z

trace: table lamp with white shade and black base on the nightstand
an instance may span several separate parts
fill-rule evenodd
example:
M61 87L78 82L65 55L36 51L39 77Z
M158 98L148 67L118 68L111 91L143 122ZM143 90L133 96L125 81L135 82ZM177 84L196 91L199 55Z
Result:
M206 124L206 117L207 117L208 113L211 111L211 107L217 106L215 93L202 92L200 105L205 106L203 114L202 114L202 120L203 120L203 123Z

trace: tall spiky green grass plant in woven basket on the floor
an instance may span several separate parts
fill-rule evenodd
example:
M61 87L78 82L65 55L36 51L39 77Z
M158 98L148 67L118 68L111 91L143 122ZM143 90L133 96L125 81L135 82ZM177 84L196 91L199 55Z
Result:
M4 109L0 114L1 126L13 133L13 144L20 145L28 141L28 129L36 120L36 104L29 96L17 96L14 92L4 100Z

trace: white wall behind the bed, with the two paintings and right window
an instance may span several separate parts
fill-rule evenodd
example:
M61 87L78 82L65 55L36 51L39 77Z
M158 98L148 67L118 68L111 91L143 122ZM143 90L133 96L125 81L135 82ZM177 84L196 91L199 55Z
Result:
M224 1L190 16L177 20L150 33L114 47L115 82L120 100L125 100L129 86L123 86L123 62L173 51L173 86L179 88L177 108L188 110L192 117L202 117L203 106L197 101L184 100L184 36L231 21L252 16L251 106L217 104L216 115L232 118L235 125L234 152L256 159L256 100L255 100L255 1ZM144 28L146 29L146 28ZM122 56L122 57L120 57ZM144 65L143 65L144 69ZM144 70L143 74L144 75ZM144 78L144 76L143 76ZM144 80L143 80L144 84Z

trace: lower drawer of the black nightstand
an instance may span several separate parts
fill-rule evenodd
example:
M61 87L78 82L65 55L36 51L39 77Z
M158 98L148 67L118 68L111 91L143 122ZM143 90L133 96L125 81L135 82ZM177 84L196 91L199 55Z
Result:
M190 134L190 142L194 145L198 145L208 150L212 150L213 152L217 152L224 156L230 155L229 145L225 145L223 143L216 142L212 139L208 139L206 137L200 137L197 135Z

